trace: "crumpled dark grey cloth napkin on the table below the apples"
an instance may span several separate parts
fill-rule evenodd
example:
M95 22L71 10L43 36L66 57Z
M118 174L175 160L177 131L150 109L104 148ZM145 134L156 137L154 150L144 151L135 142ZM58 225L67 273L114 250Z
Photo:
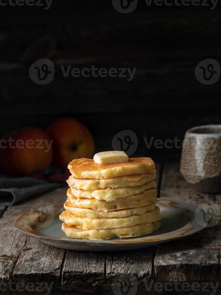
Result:
M8 178L0 175L0 205L12 206L29 197L52 191L65 185L65 181L45 181L33 177Z

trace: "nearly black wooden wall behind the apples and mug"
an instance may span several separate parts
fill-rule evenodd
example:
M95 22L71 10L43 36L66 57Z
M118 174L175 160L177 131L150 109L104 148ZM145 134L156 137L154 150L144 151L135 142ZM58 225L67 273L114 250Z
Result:
M195 66L214 58L221 63L221 16L209 7L147 7L121 14L111 1L56 1L50 9L1 6L0 135L21 126L46 128L73 116L85 123L96 150L112 149L125 129L138 137L134 156L156 162L180 149L147 150L143 136L183 139L186 129L220 123L220 83L203 85ZM34 45L33 45L34 44ZM40 58L55 64L55 78L37 85L30 65ZM73 67L136 67L134 79L64 78L60 64Z

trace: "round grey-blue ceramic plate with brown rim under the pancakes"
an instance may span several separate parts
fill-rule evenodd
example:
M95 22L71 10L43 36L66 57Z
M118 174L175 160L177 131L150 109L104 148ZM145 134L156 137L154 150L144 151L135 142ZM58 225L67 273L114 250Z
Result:
M137 238L113 238L106 241L71 239L61 230L59 214L62 205L43 207L18 216L13 225L24 234L41 240L43 243L70 250L81 251L116 251L149 247L175 239L188 237L206 227L202 211L198 207L169 198L159 198L158 206L163 217L161 227Z

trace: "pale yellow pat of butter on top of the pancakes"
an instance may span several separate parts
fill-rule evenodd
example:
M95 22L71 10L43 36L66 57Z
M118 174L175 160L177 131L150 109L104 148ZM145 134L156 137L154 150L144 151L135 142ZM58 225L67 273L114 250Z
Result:
M127 161L128 156L123 151L100 152L94 155L94 162L97 164L113 164Z

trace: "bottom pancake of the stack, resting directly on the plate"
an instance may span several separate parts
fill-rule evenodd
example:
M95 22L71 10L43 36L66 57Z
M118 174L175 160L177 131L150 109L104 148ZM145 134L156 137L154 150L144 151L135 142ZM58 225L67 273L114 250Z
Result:
M125 228L110 228L100 230L82 230L74 226L62 224L62 230L66 236L72 239L86 239L86 240L108 240L111 238L131 238L151 234L153 231L160 228L160 222L145 223L132 227Z

